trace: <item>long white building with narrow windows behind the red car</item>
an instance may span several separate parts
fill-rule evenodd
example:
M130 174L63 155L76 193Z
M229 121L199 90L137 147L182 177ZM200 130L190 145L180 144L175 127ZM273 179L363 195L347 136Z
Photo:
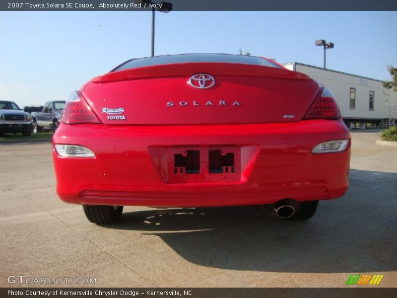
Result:
M397 124L397 92L384 88L383 81L297 62L284 67L307 74L329 87L348 127L364 129Z

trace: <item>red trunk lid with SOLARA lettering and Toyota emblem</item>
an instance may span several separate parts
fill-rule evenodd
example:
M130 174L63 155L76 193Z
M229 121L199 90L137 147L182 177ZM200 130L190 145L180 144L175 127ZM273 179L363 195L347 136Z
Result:
M213 77L213 85L189 84L197 74ZM81 91L104 124L181 125L299 121L319 89L307 75L285 69L184 63L104 74Z

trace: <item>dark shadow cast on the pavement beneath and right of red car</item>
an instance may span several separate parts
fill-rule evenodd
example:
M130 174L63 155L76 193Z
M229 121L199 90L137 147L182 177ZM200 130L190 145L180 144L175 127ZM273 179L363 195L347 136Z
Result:
M320 202L306 222L244 206L126 213L119 224L108 227L157 235L201 266L298 273L393 271L396 185L397 173L351 170L347 194Z

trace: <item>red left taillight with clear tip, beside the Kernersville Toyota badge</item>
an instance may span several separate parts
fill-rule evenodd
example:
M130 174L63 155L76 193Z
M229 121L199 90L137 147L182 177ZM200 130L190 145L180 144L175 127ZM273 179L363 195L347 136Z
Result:
M66 100L61 122L66 124L101 123L79 91L74 91Z

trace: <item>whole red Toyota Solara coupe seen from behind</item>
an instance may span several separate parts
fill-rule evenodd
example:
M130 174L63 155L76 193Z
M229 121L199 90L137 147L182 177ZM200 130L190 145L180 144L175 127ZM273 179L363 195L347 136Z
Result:
M72 93L53 137L59 197L90 222L123 206L257 205L307 220L348 188L333 95L260 57L132 59Z

